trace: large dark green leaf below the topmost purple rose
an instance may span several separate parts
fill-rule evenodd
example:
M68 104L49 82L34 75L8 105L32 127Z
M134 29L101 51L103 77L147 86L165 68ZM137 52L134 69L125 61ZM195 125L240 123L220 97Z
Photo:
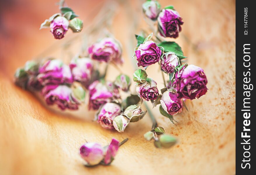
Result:
M187 58L183 55L181 47L175 43L174 41L163 41L159 43L157 46L161 46L164 48L165 52L174 52L180 60Z

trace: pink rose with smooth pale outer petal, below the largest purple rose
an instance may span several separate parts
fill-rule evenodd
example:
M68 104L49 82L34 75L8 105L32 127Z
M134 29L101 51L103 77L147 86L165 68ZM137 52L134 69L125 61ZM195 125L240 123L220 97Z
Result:
M177 93L165 91L160 100L161 106L163 109L170 115L175 115L182 111L182 99L177 98Z

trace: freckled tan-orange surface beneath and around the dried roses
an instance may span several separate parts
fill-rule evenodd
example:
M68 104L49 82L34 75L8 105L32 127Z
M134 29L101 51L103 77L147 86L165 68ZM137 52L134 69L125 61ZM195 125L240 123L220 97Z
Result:
M136 31L130 27L126 3L116 9L113 32L123 45L126 64L130 39L144 25L139 4L129 1L140 14ZM160 0L162 6L167 0ZM3 3L3 2L1 2ZM6 2L7 3L7 2ZM92 122L93 112L85 120L63 116L46 109L30 92L13 84L17 67L58 41L40 23L58 8L55 1L12 0L1 5L0 25L0 174L235 174L235 1L171 1L183 17L181 36L176 41L188 56L188 63L202 67L208 78L208 92L198 100L187 101L189 112L176 116L178 125L154 114L159 125L173 134L179 143L171 149L156 149L145 141L150 130L149 116L131 123L124 133L102 129ZM91 9L101 1L68 0L85 25L91 22ZM140 23L142 22L142 23ZM67 37L71 36L69 31ZM64 38L65 40L65 38ZM147 70L163 87L157 65ZM117 75L109 72L109 78ZM111 166L86 168L79 147L87 141L107 145L115 137L129 141L119 150Z

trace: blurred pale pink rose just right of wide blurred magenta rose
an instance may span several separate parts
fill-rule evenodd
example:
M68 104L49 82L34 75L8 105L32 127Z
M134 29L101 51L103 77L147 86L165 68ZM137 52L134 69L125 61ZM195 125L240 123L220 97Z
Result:
M69 67L74 81L82 83L90 81L93 71L93 62L90 58L75 58L71 60Z

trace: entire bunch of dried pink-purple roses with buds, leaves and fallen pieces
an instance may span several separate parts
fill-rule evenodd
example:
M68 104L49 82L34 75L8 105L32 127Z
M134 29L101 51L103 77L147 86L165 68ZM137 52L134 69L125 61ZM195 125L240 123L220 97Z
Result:
M61 2L63 5L64 1ZM64 8L62 5L61 9ZM142 7L149 19L152 21L157 19L157 28L162 37L176 38L179 35L180 25L183 22L173 6L161 10L157 1L148 0ZM72 20L76 19L73 11L68 12L62 16L54 15L45 22L55 38L64 37L67 26L70 27L71 22L68 20L72 15ZM162 41L157 36L155 37L159 42L154 42L151 41L153 37L152 33L147 37L136 35L135 56L138 67L142 66L146 70L149 65L159 63L161 71L169 75L169 81L164 81L167 85L161 89L161 94L156 87L156 81L149 78L145 70L138 69L133 74L137 95L129 94L122 100L119 91L130 92L129 76L121 74L114 82L107 81L105 79L107 66L105 73L100 74L96 64L105 62L116 66L123 63L121 44L114 38L103 38L94 43L88 47L87 57L77 56L69 62L69 65L57 59L28 61L23 68L16 71L15 83L27 90L41 91L48 105L55 104L62 110L79 109L85 101L87 90L88 108L98 110L96 115L98 123L103 128L116 129L118 132L124 132L130 122L137 122L144 117L147 111L141 108L143 101L151 101L153 107L161 104L159 108L161 114L173 122L175 121L173 115L182 111L183 99L192 100L206 94L207 79L200 67L182 63L181 60L186 57L177 43ZM155 120L152 116L151 119ZM154 139L157 148L169 148L176 143L176 139L165 134L163 127L157 126L156 121L153 121L151 131L144 134L144 137L147 140ZM86 143L81 146L80 155L87 166L107 165L112 162L122 143L124 142L119 143L116 139L106 147L98 143Z

